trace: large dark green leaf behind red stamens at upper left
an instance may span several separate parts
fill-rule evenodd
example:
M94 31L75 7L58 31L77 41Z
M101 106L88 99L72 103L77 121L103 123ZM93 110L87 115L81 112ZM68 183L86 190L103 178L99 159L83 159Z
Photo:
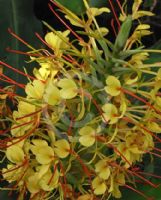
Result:
M29 44L34 44L35 47L39 48L42 46L41 42L35 36L35 32L41 32L41 23L34 16L33 0L1 0L0 10L0 60L21 71L23 71L23 67L26 67L27 71L31 73L33 70L31 64L28 66L25 62L25 60L28 60L28 57L15 53L9 53L6 51L6 48L10 47L11 49L24 52L29 51L24 44L13 38L8 33L8 28L11 28L17 35L19 35ZM18 73L13 72L6 67L3 69L6 76L14 79L17 82L25 83L27 80L26 77L23 77L22 75L19 75ZM4 85L4 83L1 84ZM19 89L18 91L20 92Z

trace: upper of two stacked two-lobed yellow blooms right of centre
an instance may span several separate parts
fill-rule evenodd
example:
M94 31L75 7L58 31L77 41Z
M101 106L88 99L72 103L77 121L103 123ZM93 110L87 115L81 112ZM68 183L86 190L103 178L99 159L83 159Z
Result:
M111 96L118 96L120 94L121 84L115 76L108 76L106 84L105 91L107 94L110 94Z

